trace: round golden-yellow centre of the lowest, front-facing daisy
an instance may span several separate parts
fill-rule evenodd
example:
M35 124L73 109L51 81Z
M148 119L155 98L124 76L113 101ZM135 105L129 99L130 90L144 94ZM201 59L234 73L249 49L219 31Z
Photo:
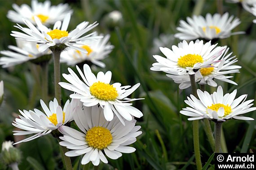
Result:
M102 150L112 143L110 130L105 127L95 126L87 131L85 140L90 147Z

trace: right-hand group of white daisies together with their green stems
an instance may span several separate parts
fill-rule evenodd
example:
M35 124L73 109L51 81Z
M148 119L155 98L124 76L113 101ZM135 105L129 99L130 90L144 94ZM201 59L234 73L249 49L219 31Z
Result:
M252 0L244 0L242 4L245 9L256 15L256 3L252 3ZM249 7L250 5L252 8ZM175 38L183 41L178 46L172 45L171 48L160 47L165 57L153 55L157 62L150 70L167 73L166 76L179 84L180 89L191 86L193 94L184 101L189 107L183 108L180 113L189 116L188 120L194 121L194 153L197 169L201 169L198 120L206 119L205 122L210 127L209 131L206 130L208 140L215 140L215 144L211 143L211 147L215 147L215 152L219 153L221 152L221 123L232 118L254 120L241 115L256 110L256 107L252 107L254 100L246 101L247 95L235 99L237 90L224 95L222 87L218 86L219 82L216 81L238 85L230 79L233 78L230 74L239 73L241 66L234 65L238 59L232 56L232 52L228 53L227 46L217 46L218 44L212 44L212 42L231 35L244 34L243 31L231 32L240 24L240 20L234 16L229 17L229 13L223 15L207 13L205 18L194 15L187 17L186 20L187 22L180 21L180 26L177 27L179 32L174 35ZM196 89L196 83L202 90ZM205 91L206 84L212 87L218 86L217 91L209 94ZM213 139L208 120L216 122L215 139Z

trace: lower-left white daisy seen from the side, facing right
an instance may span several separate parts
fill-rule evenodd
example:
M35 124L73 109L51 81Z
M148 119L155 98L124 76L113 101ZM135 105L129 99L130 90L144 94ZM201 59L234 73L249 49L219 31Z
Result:
M71 103L67 100L63 109L58 105L56 98L49 102L49 108L45 105L43 100L40 100L40 104L44 113L38 109L34 109L34 111L19 110L22 115L19 115L19 118L16 118L15 121L13 121L13 126L25 131L13 131L15 132L13 135L35 135L18 141L15 144L27 142L51 133L53 130L58 129L67 122L74 120L73 114L76 107L82 108L79 100L74 99L71 100Z

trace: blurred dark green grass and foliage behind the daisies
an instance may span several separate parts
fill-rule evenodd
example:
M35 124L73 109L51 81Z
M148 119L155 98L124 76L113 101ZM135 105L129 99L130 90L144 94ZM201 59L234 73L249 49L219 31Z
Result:
M8 45L16 45L10 32L16 30L15 25L6 17L12 4L31 4L28 0L0 0L0 50L7 50ZM92 66L93 71L112 71L112 81L122 85L141 83L141 87L132 97L144 97L145 100L133 103L144 116L137 119L143 134L138 137L133 147L135 153L123 154L118 160L110 160L101 165L101 169L113 170L175 170L195 169L192 122L179 113L185 107L184 100L190 88L179 90L178 85L162 72L150 71L155 62L153 54L160 54L159 46L154 39L159 36L169 37L165 47L171 48L180 42L172 35L181 19L193 14L225 13L240 18L241 24L235 31L246 31L244 35L234 35L219 41L219 45L227 45L230 52L238 57L238 65L242 66L240 74L233 80L238 86L221 83L225 92L238 89L238 94L248 94L248 99L256 96L256 24L255 18L245 11L240 4L223 1L217 6L215 0L52 0L53 5L68 3L74 10L69 30L82 21L99 22L97 32L110 34L110 42L114 50L103 62L106 68ZM201 7L200 7L201 5ZM107 21L108 13L118 10L123 21L111 24ZM67 72L67 65L61 65L61 73ZM73 67L72 67L73 68ZM75 69L74 69L75 70ZM23 63L8 69L0 68L0 80L4 81L4 103L0 108L0 144L4 140L14 140L12 121L17 117L18 109L39 108L40 78L39 66ZM65 81L62 78L62 81ZM208 92L215 87L207 87ZM53 100L53 62L49 66L49 100ZM62 89L62 103L71 92ZM256 114L247 113L256 118ZM212 129L214 124L212 123ZM226 149L233 152L255 152L255 121L230 120L223 125ZM203 131L203 122L199 124L200 149L203 165L212 155L210 144ZM30 142L17 145L22 150L21 170L62 170L62 161L57 140L46 135ZM79 168L79 157L72 157L75 168ZM214 160L208 168L214 166Z

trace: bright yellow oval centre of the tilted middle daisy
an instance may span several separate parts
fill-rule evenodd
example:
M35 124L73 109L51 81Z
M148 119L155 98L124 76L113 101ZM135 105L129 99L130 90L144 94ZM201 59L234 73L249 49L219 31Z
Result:
M93 96L100 100L115 100L118 93L113 85L102 83L100 81L93 83L90 87L90 92Z

